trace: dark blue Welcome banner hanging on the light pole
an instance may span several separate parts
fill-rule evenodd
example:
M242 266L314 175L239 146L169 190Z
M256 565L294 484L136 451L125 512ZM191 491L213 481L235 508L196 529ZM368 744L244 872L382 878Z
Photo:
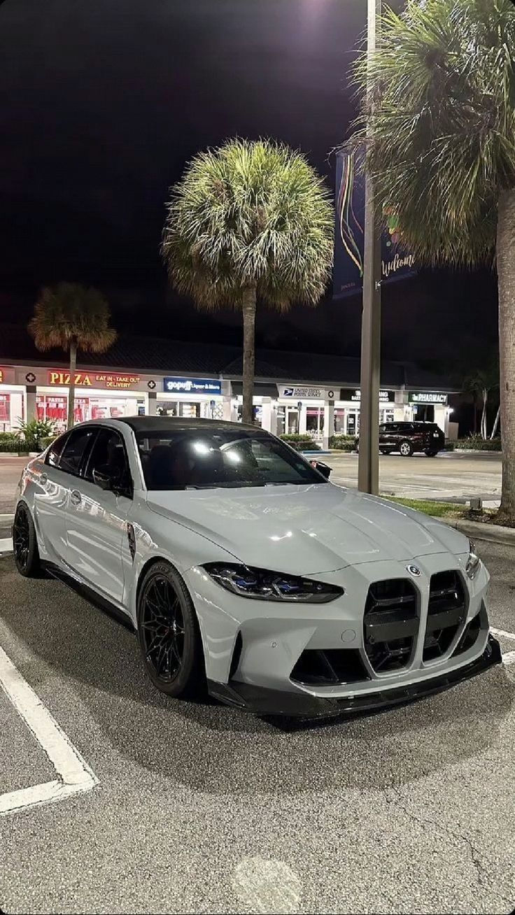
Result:
M363 229L365 181L363 153L339 152L336 174L336 225L333 297L356 295L363 284ZM393 212L384 212L381 236L381 283L392 283L416 273L413 253L402 245Z

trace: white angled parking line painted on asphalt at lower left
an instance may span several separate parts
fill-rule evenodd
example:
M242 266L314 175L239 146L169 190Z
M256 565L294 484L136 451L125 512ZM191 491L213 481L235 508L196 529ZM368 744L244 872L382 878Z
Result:
M0 648L0 686L48 756L58 778L30 788L0 795L0 816L37 804L62 801L98 784L96 775L80 756L38 695Z

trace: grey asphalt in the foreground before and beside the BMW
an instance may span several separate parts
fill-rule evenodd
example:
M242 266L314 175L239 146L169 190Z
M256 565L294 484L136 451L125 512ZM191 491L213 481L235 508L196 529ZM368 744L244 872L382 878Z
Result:
M515 633L513 553L480 545L491 624ZM515 636L501 644L515 651ZM0 646L21 714L41 711L31 689L47 710L56 768L62 741L94 776L0 816L5 912L514 909L515 664L375 716L277 727L166 700L129 631L59 582L20 578L11 557ZM55 772L0 696L1 810Z

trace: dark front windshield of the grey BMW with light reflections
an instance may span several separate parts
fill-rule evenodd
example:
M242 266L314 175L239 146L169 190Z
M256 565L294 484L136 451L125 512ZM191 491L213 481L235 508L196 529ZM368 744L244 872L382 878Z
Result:
M257 430L177 429L136 439L147 490L327 482L295 451Z

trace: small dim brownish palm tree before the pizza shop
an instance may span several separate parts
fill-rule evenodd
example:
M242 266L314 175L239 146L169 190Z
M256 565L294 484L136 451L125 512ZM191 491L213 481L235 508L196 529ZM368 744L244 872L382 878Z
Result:
M109 306L98 289L76 283L59 283L43 289L34 308L28 331L38 350L60 347L70 353L68 428L73 425L77 350L105 352L116 339L109 327Z

